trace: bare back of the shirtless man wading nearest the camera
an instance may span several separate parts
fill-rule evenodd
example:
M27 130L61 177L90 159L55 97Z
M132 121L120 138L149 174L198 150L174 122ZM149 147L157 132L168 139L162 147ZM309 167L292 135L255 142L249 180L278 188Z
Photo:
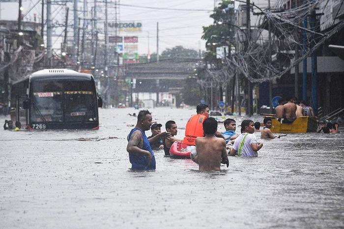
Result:
M220 170L221 161L227 158L226 141L214 136L196 139L197 163L200 171Z

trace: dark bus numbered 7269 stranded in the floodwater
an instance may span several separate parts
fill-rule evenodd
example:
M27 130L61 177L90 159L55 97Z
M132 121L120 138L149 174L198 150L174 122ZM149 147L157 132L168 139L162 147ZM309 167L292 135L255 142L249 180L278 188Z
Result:
M11 119L32 129L98 129L102 103L92 75L45 69L12 85Z

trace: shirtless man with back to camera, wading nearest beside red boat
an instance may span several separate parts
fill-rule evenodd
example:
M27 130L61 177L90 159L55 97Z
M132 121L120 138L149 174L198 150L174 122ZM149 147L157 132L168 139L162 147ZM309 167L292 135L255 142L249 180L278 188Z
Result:
M196 138L195 162L199 164L199 171L220 170L221 163L229 166L226 151L226 142L223 138L217 138L214 134L217 131L217 121L213 117L203 122L205 137Z

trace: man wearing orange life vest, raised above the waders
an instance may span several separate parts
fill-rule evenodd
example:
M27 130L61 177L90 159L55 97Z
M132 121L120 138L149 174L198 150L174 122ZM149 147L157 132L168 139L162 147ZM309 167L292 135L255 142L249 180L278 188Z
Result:
M209 117L209 106L200 103L196 107L196 112L197 114L192 115L186 123L185 137L183 139L183 143L185 144L195 145L196 138L204 136L203 122ZM218 131L215 133L215 136L224 139Z

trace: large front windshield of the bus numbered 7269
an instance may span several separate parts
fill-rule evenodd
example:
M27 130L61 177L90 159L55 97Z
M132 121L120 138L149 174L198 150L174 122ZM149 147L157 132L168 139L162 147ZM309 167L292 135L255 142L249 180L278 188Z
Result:
M97 121L96 93L91 81L35 81L31 93L32 122Z

